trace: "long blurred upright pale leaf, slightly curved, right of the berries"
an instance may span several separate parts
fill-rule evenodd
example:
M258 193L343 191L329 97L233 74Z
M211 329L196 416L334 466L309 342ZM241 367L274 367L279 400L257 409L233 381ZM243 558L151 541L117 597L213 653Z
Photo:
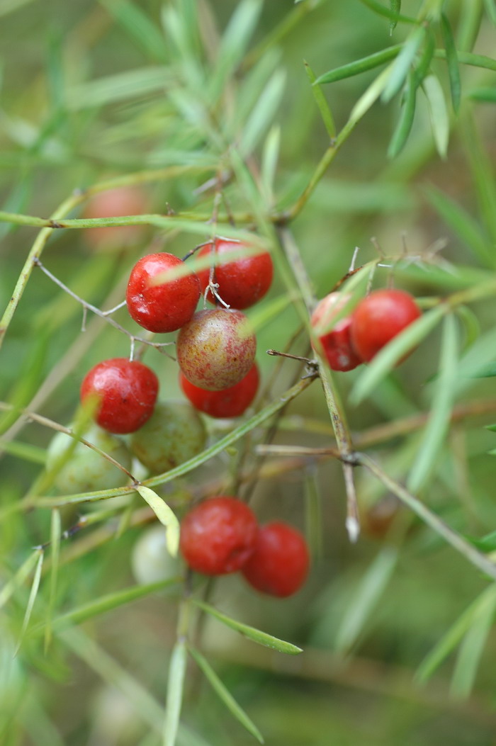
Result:
M422 445L418 451L412 470L406 480L410 492L418 492L430 477L439 459L448 425L455 394L458 375L458 333L456 320L452 314L445 317L442 332L439 377L433 394L433 405L424 430Z

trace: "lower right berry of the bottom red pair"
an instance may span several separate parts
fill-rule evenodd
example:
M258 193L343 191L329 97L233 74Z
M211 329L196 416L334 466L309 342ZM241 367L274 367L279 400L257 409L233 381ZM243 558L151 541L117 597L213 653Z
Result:
M309 567L304 536L283 521L273 521L260 527L254 552L242 574L257 591L284 598L301 588Z

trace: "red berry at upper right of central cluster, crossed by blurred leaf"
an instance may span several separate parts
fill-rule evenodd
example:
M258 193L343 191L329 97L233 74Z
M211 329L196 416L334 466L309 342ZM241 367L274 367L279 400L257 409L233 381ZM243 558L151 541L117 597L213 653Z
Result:
M241 259L229 261L229 255L246 248L239 241L226 241L216 239L207 243L198 251L198 257L212 257L214 266L213 281L219 285L217 292L222 300L231 308L248 308L260 301L271 286L274 268L272 266L269 251L261 251L260 254L252 254ZM201 291L205 292L210 278L210 269L201 269L198 272ZM212 293L207 293L207 299L215 304L216 298Z

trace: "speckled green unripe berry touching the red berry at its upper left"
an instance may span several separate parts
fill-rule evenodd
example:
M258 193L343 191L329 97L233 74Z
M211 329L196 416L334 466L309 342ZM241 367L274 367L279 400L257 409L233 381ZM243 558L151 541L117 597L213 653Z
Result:
M203 451L207 430L186 401L159 401L151 418L131 436L131 451L152 474L179 466Z

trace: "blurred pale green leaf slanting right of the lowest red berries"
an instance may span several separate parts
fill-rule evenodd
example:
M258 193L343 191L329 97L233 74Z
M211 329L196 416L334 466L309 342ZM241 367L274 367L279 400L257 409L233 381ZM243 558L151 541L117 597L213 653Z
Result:
M336 633L336 650L349 651L362 633L374 606L383 594L398 562L398 552L386 547L375 557L360 580L351 603L342 613L342 622Z

